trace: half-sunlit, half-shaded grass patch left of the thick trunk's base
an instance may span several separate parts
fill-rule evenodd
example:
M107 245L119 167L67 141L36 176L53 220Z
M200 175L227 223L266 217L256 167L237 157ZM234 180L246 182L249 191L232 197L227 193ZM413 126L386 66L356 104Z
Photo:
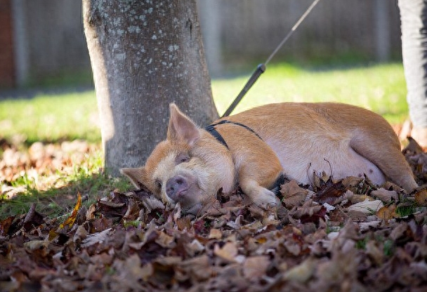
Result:
M70 211L77 194L89 206L114 189L124 192L131 188L125 178L111 178L103 172L100 147L86 153L82 163L52 173L39 174L34 168L21 173L15 180L0 184L0 218L26 213L33 203L37 211L52 218Z

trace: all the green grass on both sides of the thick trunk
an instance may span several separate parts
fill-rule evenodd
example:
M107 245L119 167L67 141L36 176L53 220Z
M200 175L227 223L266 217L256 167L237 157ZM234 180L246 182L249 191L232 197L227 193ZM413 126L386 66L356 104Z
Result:
M212 81L219 114L225 112L248 77L249 74ZM397 63L335 69L269 65L235 112L269 102L335 101L374 110L395 124L407 119L405 95L403 69ZM59 179L47 190L38 189L26 174L8 182L6 185L22 187L25 191L14 199L1 198L0 194L0 218L25 213L34 201L39 203L37 210L56 216L74 206L78 192L86 196L86 204L90 204L115 188L124 191L130 187L124 178L112 179L100 172L103 161L93 91L0 100L0 141L2 138L22 150L36 141L79 138L98 145L98 151L87 158L86 164L75 166L72 173L57 173ZM1 152L0 147L0 155Z

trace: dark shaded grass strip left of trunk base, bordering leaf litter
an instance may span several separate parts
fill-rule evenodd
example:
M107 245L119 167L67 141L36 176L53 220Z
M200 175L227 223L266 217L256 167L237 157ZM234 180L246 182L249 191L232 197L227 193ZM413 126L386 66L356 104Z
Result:
M61 218L68 215L77 203L78 194L81 194L82 205L90 206L98 199L110 194L113 190L126 192L132 185L126 178L111 178L105 173L81 175L79 178L64 182L60 187L52 187L46 191L34 187L11 187L16 194L7 198L7 193L0 197L0 220L9 216L24 215L32 204L36 204L36 211L48 218ZM14 190L13 190L14 189Z

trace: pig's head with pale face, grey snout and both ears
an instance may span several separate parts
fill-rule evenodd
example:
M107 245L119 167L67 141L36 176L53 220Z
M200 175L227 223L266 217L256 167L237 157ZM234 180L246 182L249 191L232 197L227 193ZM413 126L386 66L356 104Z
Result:
M166 140L160 142L145 166L122 168L133 185L145 185L165 203L197 213L218 190L230 192L235 168L230 152L209 133L198 128L176 105L170 105Z

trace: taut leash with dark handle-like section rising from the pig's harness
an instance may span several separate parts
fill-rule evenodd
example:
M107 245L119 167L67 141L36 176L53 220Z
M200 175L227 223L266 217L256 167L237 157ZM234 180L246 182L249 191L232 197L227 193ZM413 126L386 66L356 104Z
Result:
M310 5L310 7L307 8L306 12L301 15L301 18L298 19L298 21L295 23L295 25L291 28L291 30L288 32L288 34L284 37L284 39L280 42L280 44L277 46L275 51L273 51L268 59L265 61L265 63L258 65L256 67L256 70L254 73L252 73L251 77L247 81L247 84L244 85L242 91L240 91L239 95L237 95L237 98L232 102L230 107L225 111L223 114L223 117L228 117L233 110L235 110L235 107L239 104L240 100L244 97L244 95L251 89L251 87L254 85L255 81L258 80L258 78L265 72L265 65L270 62L270 60L274 57L274 55L282 48L284 43L289 39L289 37L294 33L294 31L298 28L298 26L303 22L303 20L307 17L308 13L316 6L317 2L320 0L314 0L313 3Z

